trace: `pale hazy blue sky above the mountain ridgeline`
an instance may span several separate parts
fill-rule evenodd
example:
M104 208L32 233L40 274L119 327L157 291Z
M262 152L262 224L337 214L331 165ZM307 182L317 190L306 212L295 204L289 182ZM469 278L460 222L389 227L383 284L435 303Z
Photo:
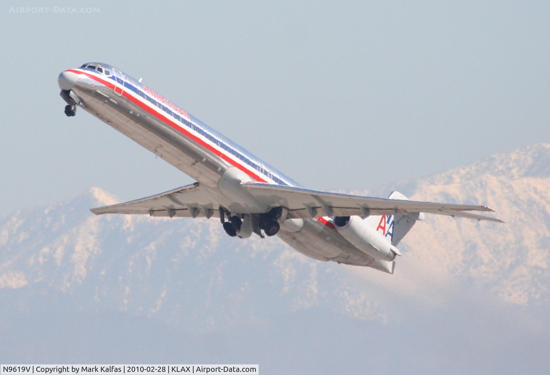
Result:
M548 142L547 2L3 2L0 214L191 178L63 114L57 75L113 64L311 188L371 188Z

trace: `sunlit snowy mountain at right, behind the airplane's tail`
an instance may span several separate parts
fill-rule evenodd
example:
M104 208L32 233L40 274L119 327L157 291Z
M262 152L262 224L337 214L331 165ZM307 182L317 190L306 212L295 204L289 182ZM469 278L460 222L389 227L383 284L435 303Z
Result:
M485 204L507 222L426 215L405 238L408 256L488 286L504 301L549 301L550 144L492 155L394 188L414 200Z

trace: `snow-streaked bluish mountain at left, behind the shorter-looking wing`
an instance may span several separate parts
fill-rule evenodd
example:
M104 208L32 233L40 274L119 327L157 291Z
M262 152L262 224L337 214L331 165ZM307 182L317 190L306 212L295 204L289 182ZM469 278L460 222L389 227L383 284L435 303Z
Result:
M228 237L219 220L95 216L88 210L114 202L91 188L67 202L3 218L0 287L19 291L3 305L71 296L86 308L215 328L254 315L267 305L262 300L277 298L281 313L315 306L320 284L342 282L335 268L311 262L276 238ZM333 292L334 286L323 289ZM340 306L345 298L327 300Z

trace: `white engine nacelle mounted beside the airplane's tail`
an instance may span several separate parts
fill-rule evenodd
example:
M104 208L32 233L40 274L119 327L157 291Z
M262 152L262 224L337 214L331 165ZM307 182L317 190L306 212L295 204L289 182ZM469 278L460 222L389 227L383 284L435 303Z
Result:
M360 251L375 259L391 262L399 250L359 216L336 216L334 225L340 234Z

